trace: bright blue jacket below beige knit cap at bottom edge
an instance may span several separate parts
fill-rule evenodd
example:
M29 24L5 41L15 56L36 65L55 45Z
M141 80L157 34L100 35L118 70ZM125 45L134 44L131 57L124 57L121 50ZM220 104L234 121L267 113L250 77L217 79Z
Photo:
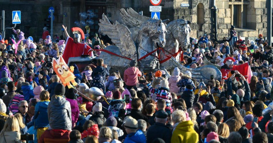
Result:
M146 137L141 130L130 133L126 136L123 143L146 143Z

